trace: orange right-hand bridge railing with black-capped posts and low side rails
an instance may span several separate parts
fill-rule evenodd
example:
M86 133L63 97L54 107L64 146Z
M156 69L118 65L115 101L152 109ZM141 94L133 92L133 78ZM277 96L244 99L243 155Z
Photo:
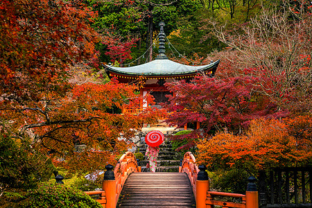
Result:
M259 199L258 191L254 181L255 177L248 178L248 186L245 194L239 193L225 193L218 191L209 191L209 178L206 172L206 166L198 166L194 155L190 152L184 154L184 158L179 167L180 173L187 173L193 193L196 198L197 208L212 208L214 205L222 207L236 207L236 208L258 208ZM215 197L232 197L241 198L241 203L229 202L222 200L214 200Z

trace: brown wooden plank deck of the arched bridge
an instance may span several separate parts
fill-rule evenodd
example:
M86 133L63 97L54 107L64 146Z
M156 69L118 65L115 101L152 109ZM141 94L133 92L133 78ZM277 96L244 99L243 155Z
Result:
M116 207L196 207L186 173L132 173Z

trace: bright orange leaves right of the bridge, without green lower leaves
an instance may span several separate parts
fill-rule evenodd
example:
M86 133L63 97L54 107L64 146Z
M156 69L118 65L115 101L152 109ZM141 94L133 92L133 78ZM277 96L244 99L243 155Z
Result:
M293 123L300 122L259 119L251 122L246 135L218 132L198 144L196 158L200 164L207 164L211 171L243 168L254 173L262 168L306 164L312 158L311 116L302 121L309 125L309 130L302 133L309 132L309 137L302 140L304 148L298 146L298 139L292 133Z

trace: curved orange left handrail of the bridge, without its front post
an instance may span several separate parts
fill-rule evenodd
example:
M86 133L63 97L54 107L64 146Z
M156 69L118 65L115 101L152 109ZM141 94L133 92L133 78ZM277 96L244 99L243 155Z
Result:
M124 153L114 168L114 175L116 180L116 201L118 200L125 180L127 180L130 173L141 172L141 167L137 164L135 154L131 152Z

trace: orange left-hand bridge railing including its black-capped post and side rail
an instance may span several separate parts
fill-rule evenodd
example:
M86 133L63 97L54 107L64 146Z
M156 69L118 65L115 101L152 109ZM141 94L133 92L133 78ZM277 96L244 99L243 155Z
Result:
M115 208L116 202L120 196L125 180L130 173L141 172L141 166L138 165L137 159L133 153L124 153L115 168L108 164L105 166L106 171L103 179L103 191L85 191L88 195L100 195L97 199L105 208ZM114 168L114 171L112 169Z

